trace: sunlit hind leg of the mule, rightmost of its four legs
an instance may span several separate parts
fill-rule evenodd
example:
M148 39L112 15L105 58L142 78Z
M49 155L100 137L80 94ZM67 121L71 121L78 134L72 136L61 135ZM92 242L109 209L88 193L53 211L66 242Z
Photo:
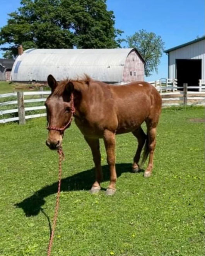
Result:
M152 175L152 168L153 168L153 159L154 159L154 149L156 145L156 131L157 131L157 123L152 123L147 121L147 135L149 138L149 162L147 169L145 170L144 177L150 177Z

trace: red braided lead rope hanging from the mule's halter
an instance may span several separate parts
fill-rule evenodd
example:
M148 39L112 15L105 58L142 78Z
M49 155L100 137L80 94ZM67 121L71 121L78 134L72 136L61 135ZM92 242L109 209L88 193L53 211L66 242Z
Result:
M59 199L60 199L60 185L61 185L62 160L63 160L63 158L64 158L63 150L62 150L62 147L60 147L58 149L58 159L59 159L58 193L57 193L57 197L56 197L55 214L54 214L54 218L53 218L53 226L52 226L52 230L51 230L47 256L50 256L50 254L51 254L51 248L52 248L52 244L53 244L53 237L54 237L54 232L55 232L56 220L57 220L57 216L58 216L58 206L59 206Z

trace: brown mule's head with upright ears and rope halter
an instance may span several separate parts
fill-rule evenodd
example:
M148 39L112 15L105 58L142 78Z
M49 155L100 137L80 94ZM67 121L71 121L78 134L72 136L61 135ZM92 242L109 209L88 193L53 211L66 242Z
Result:
M58 128L65 127L72 118L73 100L71 95L74 86L69 80L58 83L52 75L48 76L48 85L51 88L51 95L45 102L49 130L46 145L50 149L58 149L63 139L63 131Z

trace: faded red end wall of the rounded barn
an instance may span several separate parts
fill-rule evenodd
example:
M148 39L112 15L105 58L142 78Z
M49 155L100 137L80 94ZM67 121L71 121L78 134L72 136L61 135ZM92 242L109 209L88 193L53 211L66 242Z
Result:
M123 71L123 82L130 81L144 81L144 62L135 50L127 56Z

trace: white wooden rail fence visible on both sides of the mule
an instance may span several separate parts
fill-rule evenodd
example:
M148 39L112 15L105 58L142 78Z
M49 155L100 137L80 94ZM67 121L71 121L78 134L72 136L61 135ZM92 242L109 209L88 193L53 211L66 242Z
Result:
M167 106L179 106L179 105L204 105L205 106L205 81L202 81L199 86L188 86L188 89L198 89L199 92L196 91L187 91L187 84L184 84L183 87L179 87L176 85L176 80L170 81L167 80L164 83L163 80L158 80L151 82L153 86L160 92L162 97L162 107ZM167 86L166 86L167 85ZM183 89L183 90L178 90ZM204 92L203 92L204 90ZM34 106L34 107L24 107L24 104L31 102L44 102L46 98L45 95L49 95L50 91L41 91L41 92L14 92L14 93L6 93L0 94L0 99L5 97L17 97L17 100L0 102L1 106L7 105L17 105L15 109L0 109L0 118L5 114L18 113L18 116L12 118L3 118L0 119L0 123L7 123L11 121L19 121L19 124L24 124L26 119L29 118L38 118L41 116L46 116L46 113L41 114L32 114L26 115L26 111L38 111L41 109L45 109L45 106ZM24 96L28 95L38 95L40 98L38 99L24 99Z

